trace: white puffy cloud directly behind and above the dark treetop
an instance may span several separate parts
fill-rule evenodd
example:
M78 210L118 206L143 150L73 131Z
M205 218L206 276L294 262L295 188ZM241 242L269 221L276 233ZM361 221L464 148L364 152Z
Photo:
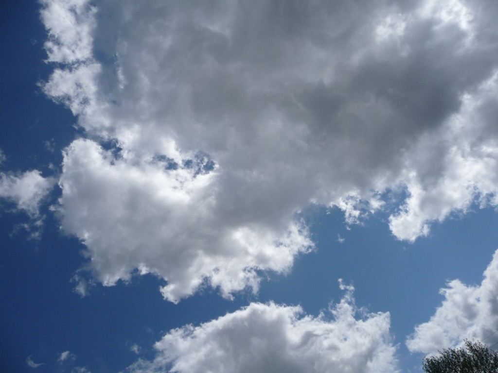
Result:
M406 344L412 352L432 354L464 339L498 343L498 251L484 272L480 285L460 280L441 289L443 303L426 323L415 328Z

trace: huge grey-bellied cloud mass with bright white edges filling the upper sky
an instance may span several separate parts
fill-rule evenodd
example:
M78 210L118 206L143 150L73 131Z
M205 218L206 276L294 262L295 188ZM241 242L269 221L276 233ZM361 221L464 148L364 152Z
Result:
M44 0L63 229L104 284L227 297L312 247L309 203L414 241L497 205L495 1ZM392 198L391 198L392 197Z

